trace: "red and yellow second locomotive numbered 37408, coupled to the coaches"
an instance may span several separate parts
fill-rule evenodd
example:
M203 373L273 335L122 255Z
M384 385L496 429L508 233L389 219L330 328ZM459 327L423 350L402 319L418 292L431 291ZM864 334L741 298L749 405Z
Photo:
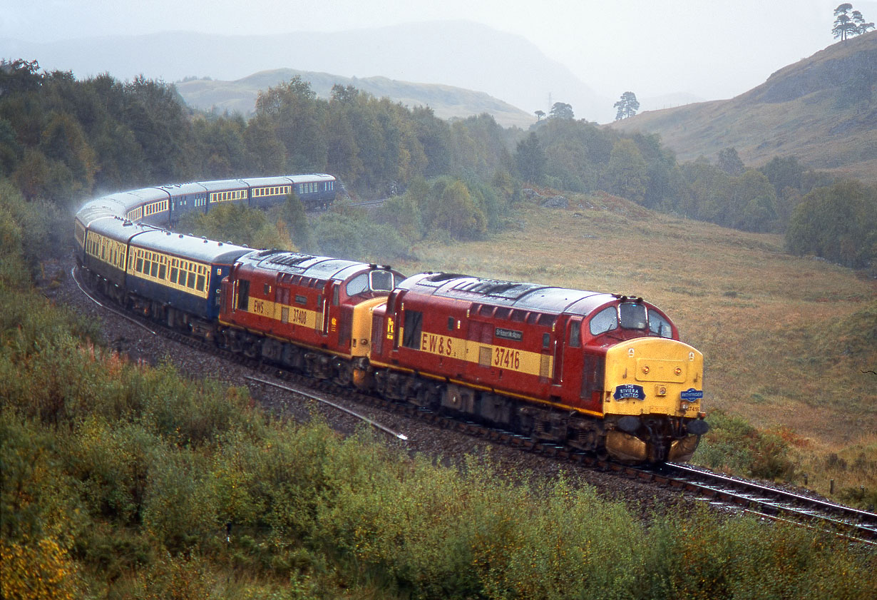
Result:
M370 309L403 280L389 267L277 250L246 254L222 284L219 342L342 384L363 384Z

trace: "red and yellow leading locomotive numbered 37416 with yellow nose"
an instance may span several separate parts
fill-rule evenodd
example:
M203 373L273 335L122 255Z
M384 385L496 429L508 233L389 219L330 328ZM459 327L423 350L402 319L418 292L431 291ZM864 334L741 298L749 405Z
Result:
M624 461L686 461L703 357L642 298L413 275L374 307L384 396Z

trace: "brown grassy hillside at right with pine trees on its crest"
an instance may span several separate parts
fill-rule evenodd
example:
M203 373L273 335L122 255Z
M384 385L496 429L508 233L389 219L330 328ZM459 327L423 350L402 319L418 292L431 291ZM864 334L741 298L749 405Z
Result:
M734 146L747 164L795 155L809 167L877 181L877 32L828 46L730 100L616 121L657 132L684 161Z

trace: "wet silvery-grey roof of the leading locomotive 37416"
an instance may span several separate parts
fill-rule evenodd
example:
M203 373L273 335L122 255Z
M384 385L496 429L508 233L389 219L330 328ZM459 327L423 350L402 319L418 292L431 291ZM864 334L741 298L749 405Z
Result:
M506 282L450 273L411 275L398 288L418 294L508 306L522 311L588 315L616 296L581 289L555 288L538 283Z

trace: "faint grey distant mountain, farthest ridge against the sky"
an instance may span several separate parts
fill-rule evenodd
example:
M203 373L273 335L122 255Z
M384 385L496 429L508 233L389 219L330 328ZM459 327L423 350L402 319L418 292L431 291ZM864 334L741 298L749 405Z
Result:
M469 21L434 21L348 32L236 36L163 32L50 43L0 39L0 56L37 60L79 78L110 73L178 81L209 76L235 81L276 68L383 76L484 92L522 111L571 104L576 118L606 122L613 101L519 35Z

